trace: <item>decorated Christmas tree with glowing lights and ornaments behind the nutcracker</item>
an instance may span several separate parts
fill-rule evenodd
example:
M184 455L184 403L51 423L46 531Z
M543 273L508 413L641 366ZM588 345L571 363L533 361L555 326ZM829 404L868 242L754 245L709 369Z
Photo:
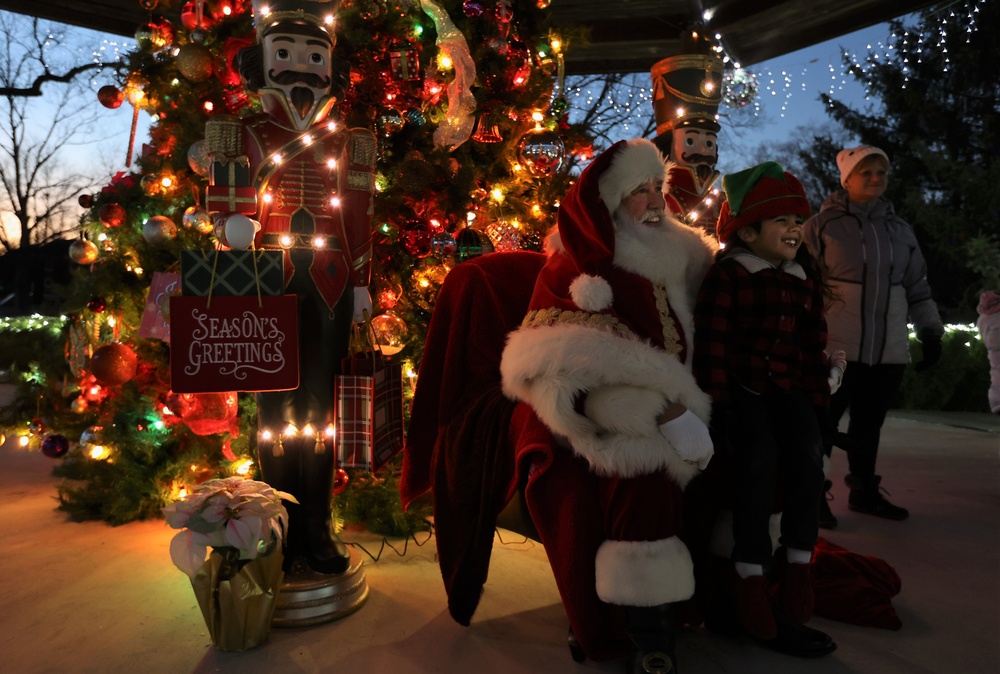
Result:
M210 477L257 470L252 394L172 391L167 302L181 251L222 246L205 203L206 122L261 109L233 64L254 42L251 5L141 2L150 20L137 49L98 97L151 115L149 139L137 149L130 139L128 170L81 199L66 318L0 337L37 335L18 346L21 395L2 412L4 432L60 462L70 517L112 524L158 516ZM331 118L378 141L371 327L409 393L448 271L491 251L538 249L571 169L592 153L567 121L566 36L550 28L547 5L348 0L336 15L345 66ZM383 533L414 530L419 518L398 507L397 470L353 471L341 514Z

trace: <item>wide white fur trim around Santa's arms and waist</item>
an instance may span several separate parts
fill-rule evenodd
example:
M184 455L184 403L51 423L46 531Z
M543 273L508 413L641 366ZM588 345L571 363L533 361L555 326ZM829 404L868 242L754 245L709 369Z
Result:
M645 427L648 435L635 435L634 425L628 427L630 432L605 428L575 409L577 397L585 392L629 386L660 397L659 409L668 401L678 402L707 423L711 399L689 369L662 349L583 325L521 327L507 338L500 372L504 393L531 405L594 472L634 477L666 469L681 486L698 474L697 466L677 455L655 423Z

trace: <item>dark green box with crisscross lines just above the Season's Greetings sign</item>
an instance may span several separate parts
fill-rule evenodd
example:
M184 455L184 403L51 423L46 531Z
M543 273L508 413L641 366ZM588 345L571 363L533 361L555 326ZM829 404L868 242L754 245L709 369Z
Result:
M184 295L281 295L285 292L280 250L182 250Z

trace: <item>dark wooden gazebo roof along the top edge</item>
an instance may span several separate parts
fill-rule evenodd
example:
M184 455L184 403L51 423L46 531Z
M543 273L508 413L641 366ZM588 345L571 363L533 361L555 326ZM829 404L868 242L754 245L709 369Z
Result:
M181 2L154 12L179 15ZM552 0L559 27L582 26L590 44L566 55L571 74L643 72L680 52L682 31L704 22L727 52L753 65L934 4L926 0ZM132 36L148 20L138 0L0 0L0 9ZM516 6L515 6L516 11Z

